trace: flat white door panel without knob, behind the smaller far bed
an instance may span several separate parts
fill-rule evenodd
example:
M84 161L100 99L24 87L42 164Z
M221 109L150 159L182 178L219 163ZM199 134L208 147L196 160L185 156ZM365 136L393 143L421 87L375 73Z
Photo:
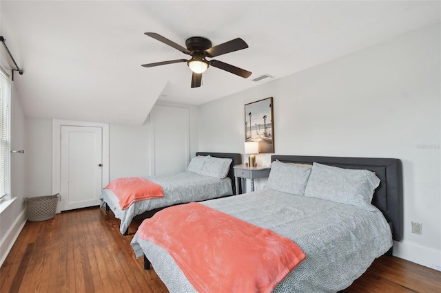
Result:
M167 175L187 170L189 109L154 106L149 117L150 175Z

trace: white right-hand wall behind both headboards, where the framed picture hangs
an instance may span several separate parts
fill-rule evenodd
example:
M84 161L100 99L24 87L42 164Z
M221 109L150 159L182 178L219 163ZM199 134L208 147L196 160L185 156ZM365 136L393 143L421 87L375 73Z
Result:
M244 105L273 96L277 154L399 158L404 239L394 254L441 270L440 43L437 25L202 105L200 149L243 153Z

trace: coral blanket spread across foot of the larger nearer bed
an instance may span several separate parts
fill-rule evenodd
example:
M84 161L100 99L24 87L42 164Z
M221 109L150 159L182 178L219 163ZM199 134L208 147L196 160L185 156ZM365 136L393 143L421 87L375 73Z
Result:
M136 233L198 292L271 292L306 257L291 239L195 202L161 210Z

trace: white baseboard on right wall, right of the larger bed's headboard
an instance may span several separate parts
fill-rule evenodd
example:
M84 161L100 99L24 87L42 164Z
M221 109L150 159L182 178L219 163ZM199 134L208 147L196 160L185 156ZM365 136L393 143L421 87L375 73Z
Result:
M393 256L441 272L441 250L428 248L411 241L393 241Z

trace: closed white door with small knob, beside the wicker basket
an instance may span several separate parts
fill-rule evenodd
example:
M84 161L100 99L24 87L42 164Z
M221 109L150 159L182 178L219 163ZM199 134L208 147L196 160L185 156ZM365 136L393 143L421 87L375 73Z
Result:
M61 126L61 210L99 205L102 140L101 127Z

